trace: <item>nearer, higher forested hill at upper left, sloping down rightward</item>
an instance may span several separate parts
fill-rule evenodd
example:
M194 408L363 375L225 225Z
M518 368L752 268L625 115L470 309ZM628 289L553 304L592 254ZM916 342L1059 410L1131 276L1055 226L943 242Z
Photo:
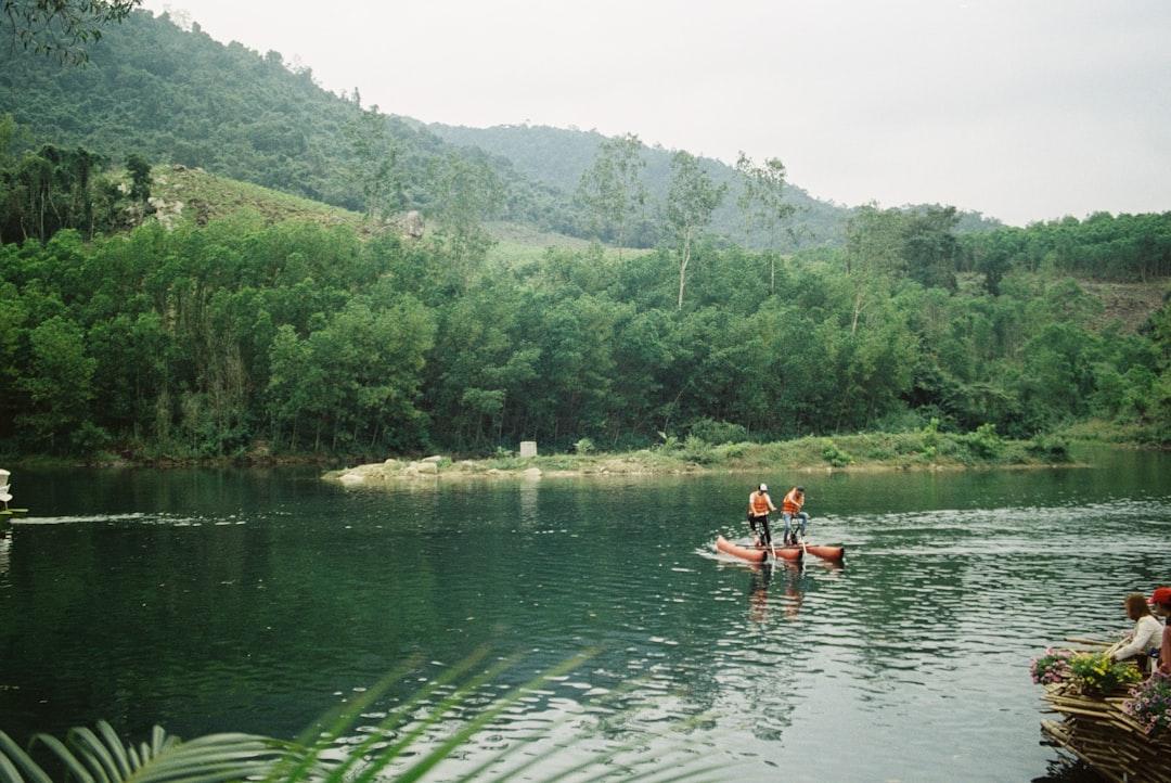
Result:
M198 23L180 29L166 14L135 12L88 50L89 63L70 68L0 48L0 116L15 121L26 149L80 146L107 169L139 154L152 165L203 169L357 212L370 205L355 172L365 163L356 150L371 137L382 147L367 156L392 159L395 201L384 206L393 210L425 207L433 199L429 164L457 154L418 123L363 107L357 87L335 95L317 85L310 67L217 42ZM507 188L509 219L574 229L564 194L535 185L504 158L491 165Z

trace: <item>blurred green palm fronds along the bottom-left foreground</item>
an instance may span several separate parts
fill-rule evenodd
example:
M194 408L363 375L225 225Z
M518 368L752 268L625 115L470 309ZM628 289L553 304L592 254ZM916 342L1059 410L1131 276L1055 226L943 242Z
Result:
M124 744L109 723L100 721L96 730L71 729L64 742L37 734L26 750L0 732L0 783L54 783L32 756L37 746L55 758L63 772L62 781L69 783L378 783L385 779L389 767L402 762L405 765L395 770L393 779L415 783L456 755L461 747L473 743L478 734L497 726L518 701L590 658L590 653L571 657L523 685L495 695L474 716L456 720L453 716L478 700L477 694L516 662L501 659L470 676L472 668L486 654L487 651L481 648L459 664L446 667L410 699L391 709L374 730L358 727L358 720L368 714L371 706L417 665L417 660L406 662L375 687L343 702L315 722L294 743L252 734L212 734L180 742L156 726L149 740L136 747ZM626 684L609 692L609 698L621 699L621 694L630 687L634 686ZM437 694L445 695L437 698ZM603 698L603 701L608 700ZM628 709L619 706L618 713ZM609 714L611 710L605 712ZM587 750L584 754L576 740L549 741L550 737L542 737L540 730L534 730L519 740L521 746L509 743L488 754L458 779L495 779L500 783L518 776L540 779L541 767L546 764L546 775L552 775L548 779L573 777L582 783L612 777L616 771L631 781L687 781L711 774L723 777L728 771L726 763L713 763L684 743L665 750L662 746L646 749L648 737L687 732L708 717L694 716L649 734L638 732L637 739L630 742L608 743L609 748ZM429 739L431 729L448 720L456 720L450 732ZM361 742L351 743L347 736L355 729L362 730L365 736ZM637 751L637 746L644 749ZM677 753L682 753L683 757L678 757ZM559 758L559 754L567 756ZM509 763L518 760L520 763ZM566 761L569 761L568 768L557 763ZM486 777L498 765L495 777ZM556 772L548 771L554 767Z

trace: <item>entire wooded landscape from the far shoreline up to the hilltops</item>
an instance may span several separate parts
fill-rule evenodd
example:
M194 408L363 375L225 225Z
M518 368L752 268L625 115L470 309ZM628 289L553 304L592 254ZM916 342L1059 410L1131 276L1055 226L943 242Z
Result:
M864 206L814 241L779 160L651 151L652 187L637 137L598 137L567 193L165 18L132 14L83 69L5 56L7 458L1171 439L1171 213L975 231ZM211 180L215 202L174 190ZM501 220L603 241L523 252Z

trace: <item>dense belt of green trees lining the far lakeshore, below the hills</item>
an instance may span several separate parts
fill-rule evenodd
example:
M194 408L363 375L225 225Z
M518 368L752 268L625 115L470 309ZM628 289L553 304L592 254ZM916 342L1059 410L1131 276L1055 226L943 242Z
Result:
M1096 308L1068 282L1014 281L994 300L895 284L854 329L848 275L795 262L769 296L735 284L763 254L706 252L717 262L680 311L670 255L617 262L596 246L468 259L465 286L444 245L246 213L4 246L0 441L381 458L637 448L662 432L707 461L721 444L905 432L886 453L812 455L843 466L1059 461L1047 433L1089 415L1167 428L1163 343L1083 325Z

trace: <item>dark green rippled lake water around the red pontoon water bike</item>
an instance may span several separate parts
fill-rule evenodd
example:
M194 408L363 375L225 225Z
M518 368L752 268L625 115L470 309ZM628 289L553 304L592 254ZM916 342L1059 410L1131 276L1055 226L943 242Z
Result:
M1127 593L1171 584L1171 455L1088 458L378 488L306 468L4 466L30 510L0 542L0 729L293 739L369 698L362 737L403 706L422 720L478 651L473 673L509 661L420 730L425 748L588 652L429 779L499 751L493 769L532 761L533 779L600 753L614 779L693 763L718 764L708 779L1057 779L1029 661L1112 638ZM758 481L778 503L803 485L809 540L844 544L844 565L717 556L718 534L746 538Z

